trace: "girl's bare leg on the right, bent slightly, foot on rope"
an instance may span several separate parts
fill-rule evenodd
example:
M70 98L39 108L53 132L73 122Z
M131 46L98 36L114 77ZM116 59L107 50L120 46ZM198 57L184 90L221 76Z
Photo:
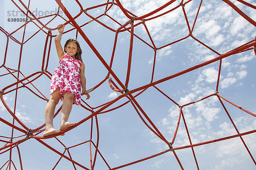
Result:
M62 105L62 109L61 109L61 125L60 125L59 130L65 130L68 127L75 125L75 123L67 122L67 120L70 116L72 106L73 106L74 97L75 97L75 95L72 94L70 91L67 91L64 94L64 100L63 100L63 105Z

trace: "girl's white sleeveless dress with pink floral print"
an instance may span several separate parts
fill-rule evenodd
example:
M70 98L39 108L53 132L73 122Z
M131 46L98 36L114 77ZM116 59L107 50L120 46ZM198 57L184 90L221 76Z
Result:
M55 68L51 79L50 94L56 88L61 89L61 101L64 99L64 93L70 91L75 95L73 104L81 105L81 82L80 82L80 68L82 62L73 59L65 53L64 57L59 60L60 65Z

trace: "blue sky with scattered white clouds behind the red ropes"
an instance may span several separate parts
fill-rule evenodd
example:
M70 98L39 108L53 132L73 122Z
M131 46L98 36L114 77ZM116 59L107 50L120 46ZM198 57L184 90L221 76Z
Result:
M15 2L17 2L17 0L15 0ZM27 1L23 2L27 4ZM45 2L46 1L32 0L31 8L35 10L37 7L38 12L55 10L55 8L58 8L57 3L54 0L47 0L47 3ZM107 0L95 0L93 2L81 2L81 5L83 8L88 8L105 2L107 2ZM132 13L137 16L142 16L143 14L147 14L148 12L159 8L167 3L168 0L120 0L120 2ZM231 2L254 21L256 20L255 9L249 8L236 0L232 0ZM247 0L247 2L256 5L253 0ZM168 11L179 3L180 1L175 1L172 5L166 7L163 11L157 14ZM18 4L21 6L20 3ZM8 1L1 1L0 5L2 6L2 12L4 13L4 17L0 19L0 26L11 33L20 26L20 23L8 23L8 21L6 21L6 19L9 18L7 16L7 11L17 11L19 9L12 6L12 3ZM73 17L80 11L80 8L75 1L66 0L64 1L64 5ZM185 11L191 27L195 20L198 6L199 2L195 0L192 0L185 6ZM97 17L100 14L103 14L104 10L105 7L101 7L87 12L93 17ZM116 19L119 23L124 24L128 21L128 18L125 17L117 6L113 6L107 14ZM67 19L64 14L62 16ZM116 23L113 23L108 17L101 17L99 20L113 29L119 28L119 26ZM42 23L47 23L48 21L49 18L41 20ZM76 19L76 22L79 25L88 21L90 21L90 18L85 14L82 14ZM49 28L55 28L59 23L64 23L60 17L53 20L48 26ZM137 23L137 21L135 23ZM189 34L181 7L162 17L149 20L145 22L145 24L157 48L186 37ZM67 31L71 28L72 26L67 25L65 30ZM38 28L32 23L29 23L26 29L28 31L26 31L25 40L38 31ZM46 28L44 28L44 30L48 31ZM82 27L82 30L109 64L115 32L104 28L96 22L92 22L87 26ZM53 35L56 35L57 33L57 31L52 31ZM151 41L142 24L134 28L134 33L151 45ZM22 34L23 31L17 31L13 36L21 41ZM207 44L210 48L220 54L224 54L246 42L254 40L256 29L223 1L204 0L192 34L198 40ZM64 34L62 36L61 44L64 45L67 39L75 36L76 31L70 31L67 34ZM0 38L2 40L0 45L0 61L3 63L3 56L6 48L6 35L1 32ZM40 31L35 37L32 37L23 45L20 71L25 76L29 76L36 71L41 71L45 40L46 34ZM87 89L89 89L101 82L108 74L108 71L80 35L78 36L78 41L80 42L83 51L82 58L86 65L85 76L87 79ZM123 84L125 84L126 79L129 42L130 33L119 33L112 70ZM9 40L5 65L9 68L17 69L19 56L20 45ZM215 57L218 57L218 55L189 37L174 45L157 50L153 81L163 79ZM130 91L150 83L153 59L154 50L134 37L131 76L128 85ZM253 50L245 51L223 59L221 79L218 88L218 92L221 96L224 96L226 99L254 114L256 113L255 61L256 57ZM52 41L47 71L52 73L57 66L58 57L54 41ZM213 62L212 64L196 69L195 71L162 82L156 85L156 87L175 100L179 105L184 105L215 93L218 67L219 62ZM6 73L7 71L5 68L0 68L0 75ZM17 73L15 74L17 75ZM16 82L16 79L10 75L0 77L0 79L1 89ZM33 82L33 84L42 92L42 94L44 94L44 96L47 96L47 98L49 97L49 83L50 79L46 76L41 76ZM32 85L28 85L28 87L35 90ZM20 88L17 94L17 106L15 111L17 117L29 128L36 128L44 124L44 108L46 101L38 98L26 88ZM37 92L37 94L39 93ZM133 95L136 94L137 93ZM86 102L90 106L96 107L115 99L119 95L120 93L114 92L109 87L108 82L104 82L99 88L90 93L91 97ZM13 111L15 91L6 94L3 97L9 108ZM107 108L107 110L119 106L127 100L127 98L122 98ZM156 125L163 136L171 142L177 125L179 108L153 87L148 88L143 94L137 96L136 101L141 108L143 108L143 111L145 111L152 122L154 122L154 125ZM256 129L255 117L225 101L223 102L240 133ZM56 110L60 106L61 102L57 105ZM94 111L96 110L97 109ZM237 134L216 96L184 107L183 113L193 144ZM71 122L79 122L90 114L90 111L74 105L69 120ZM6 111L2 102L0 102L0 115L1 118L12 122L12 116ZM148 129L148 127L145 126L131 103L114 111L100 114L97 118L99 121L99 151L111 168L143 159L169 149L165 142L160 140ZM58 128L59 121L60 116L58 115L54 119L55 128ZM20 127L17 122L15 122L15 125ZM88 120L82 125L67 132L65 136L58 137L58 139L67 147L87 141L90 139L90 125L91 120ZM11 127L0 122L0 136L10 137L11 133ZM23 133L17 130L14 131L14 136L20 135L23 135ZM40 135L42 136L42 133ZM243 136L242 138L252 155L255 157L256 134L253 133ZM1 137L0 139L5 140ZM95 119L93 119L93 142L96 143L96 139L96 124ZM44 139L43 141L57 149L59 152L64 152L64 147L56 139ZM0 144L2 147L5 143L0 142ZM173 147L186 145L189 145L189 140L184 123L181 120ZM34 170L35 167L38 170L51 169L60 157L35 139L29 139L18 146L20 148L23 169L26 170ZM93 148L92 150L94 153L95 149ZM194 147L194 150L200 169L255 169L255 164L239 138ZM80 145L79 147L70 148L69 151L73 160L90 169L89 143ZM176 150L175 152L184 169L197 169L191 148ZM43 161L43 159L45 159L45 161ZM0 167L7 160L9 160L9 152L1 154ZM20 169L16 148L12 152L12 160L15 162L17 169ZM153 159L124 167L122 170L167 170L170 167L173 169L180 169L174 154L168 152ZM61 159L56 167L56 169L72 168L73 165L66 159ZM76 168L81 169L78 166L76 166ZM99 155L97 155L94 169L108 169Z

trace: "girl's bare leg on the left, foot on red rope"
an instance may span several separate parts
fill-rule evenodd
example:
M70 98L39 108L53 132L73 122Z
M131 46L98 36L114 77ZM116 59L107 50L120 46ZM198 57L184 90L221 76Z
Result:
M45 117L45 131L43 136L49 136L52 134L59 133L60 130L56 130L53 128L53 115L55 111L55 107L60 100L60 88L57 88L50 96L50 99L45 107L44 110L44 117Z

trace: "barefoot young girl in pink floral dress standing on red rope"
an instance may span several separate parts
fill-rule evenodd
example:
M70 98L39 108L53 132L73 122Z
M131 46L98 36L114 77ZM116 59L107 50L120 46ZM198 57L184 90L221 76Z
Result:
M72 105L80 105L81 96L86 92L84 63L81 59L82 50L79 42L74 39L67 40L63 51L61 47L63 31L64 25L58 25L55 45L60 65L54 70L51 79L50 99L44 111L46 127L43 136L60 133L61 130L75 125L72 122L67 122L67 119L70 116ZM87 99L90 98L89 94L85 95L87 95ZM55 130L53 128L53 115L59 99L63 101L61 108L61 125L58 130Z

